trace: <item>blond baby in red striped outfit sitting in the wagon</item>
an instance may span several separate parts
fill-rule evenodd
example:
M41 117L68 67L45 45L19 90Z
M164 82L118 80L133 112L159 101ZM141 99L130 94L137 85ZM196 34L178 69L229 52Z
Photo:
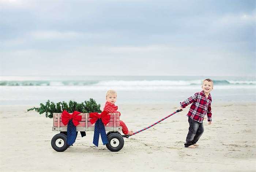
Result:
M116 99L117 99L116 91L114 90L107 91L104 110L106 110L108 113L119 113L121 115L121 113L117 111L118 107L114 105L114 103L116 102ZM125 135L131 135L133 133L133 131L128 130L125 123L121 120L120 120L120 126L122 127L122 132Z

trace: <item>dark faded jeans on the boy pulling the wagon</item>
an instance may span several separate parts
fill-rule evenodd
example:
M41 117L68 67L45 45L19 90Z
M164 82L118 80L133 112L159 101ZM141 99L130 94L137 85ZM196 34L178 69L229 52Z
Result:
M189 123L189 128L188 128L186 143L184 144L185 147L195 144L204 132L203 122L200 123L188 117L188 123Z

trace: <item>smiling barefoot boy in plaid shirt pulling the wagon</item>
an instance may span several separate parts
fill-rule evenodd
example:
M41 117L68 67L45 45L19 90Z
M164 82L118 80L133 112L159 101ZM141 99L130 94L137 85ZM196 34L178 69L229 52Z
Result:
M181 103L180 109L192 103L187 114L189 129L186 143L184 144L186 148L196 148L199 146L196 142L204 132L203 120L205 115L207 115L208 124L211 124L212 98L210 92L213 89L213 81L211 79L204 79L202 89L203 91L195 93L195 95Z

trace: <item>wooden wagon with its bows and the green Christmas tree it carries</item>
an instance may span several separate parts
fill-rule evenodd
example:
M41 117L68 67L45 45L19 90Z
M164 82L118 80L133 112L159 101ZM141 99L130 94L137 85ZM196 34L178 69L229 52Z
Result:
M75 101L40 103L40 107L33 107L27 111L35 110L39 114L45 113L46 118L53 118L52 130L60 132L53 136L51 145L57 152L63 152L73 145L78 132L86 136L86 132L94 131L93 144L98 146L99 134L103 145L117 152L124 146L124 139L120 131L119 113L107 113L100 110L101 105L90 98L89 101L77 103ZM106 131L108 133L106 134Z

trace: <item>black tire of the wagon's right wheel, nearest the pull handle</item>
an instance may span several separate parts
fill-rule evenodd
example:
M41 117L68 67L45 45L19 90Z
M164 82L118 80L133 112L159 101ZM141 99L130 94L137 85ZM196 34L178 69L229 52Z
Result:
M112 144L115 144L116 141L114 141L115 139L117 139L119 141L119 144L116 145L116 147L111 145L111 141ZM118 152L119 150L121 150L124 147L124 138L121 136L121 134L118 133L110 133L108 135L108 141L109 143L106 144L106 147L112 151L112 152Z

